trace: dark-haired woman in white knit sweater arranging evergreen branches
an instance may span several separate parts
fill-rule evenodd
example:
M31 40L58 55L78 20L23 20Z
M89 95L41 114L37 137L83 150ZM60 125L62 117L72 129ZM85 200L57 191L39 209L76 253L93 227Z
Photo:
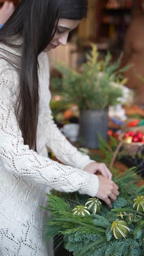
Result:
M86 12L86 0L22 0L0 31L1 256L51 256L39 208L51 188L97 195L110 207L119 194L106 166L65 139L49 107L44 50L65 45ZM47 158L46 146L65 165Z

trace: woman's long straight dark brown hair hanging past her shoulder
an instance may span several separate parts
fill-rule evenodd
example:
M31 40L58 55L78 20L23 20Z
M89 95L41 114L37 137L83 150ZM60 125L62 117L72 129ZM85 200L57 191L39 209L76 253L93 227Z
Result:
M0 42L5 45L17 47L11 38L22 39L15 112L24 143L35 151L39 115L38 55L51 42L59 18L80 20L86 13L87 0L21 0L0 30Z

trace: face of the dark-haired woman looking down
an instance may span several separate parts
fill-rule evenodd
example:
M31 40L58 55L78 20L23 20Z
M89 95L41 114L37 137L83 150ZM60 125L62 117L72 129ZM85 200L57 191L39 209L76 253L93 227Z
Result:
M66 45L68 35L71 30L74 30L79 25L80 20L59 19L55 36L52 38L45 51L55 49L58 45Z

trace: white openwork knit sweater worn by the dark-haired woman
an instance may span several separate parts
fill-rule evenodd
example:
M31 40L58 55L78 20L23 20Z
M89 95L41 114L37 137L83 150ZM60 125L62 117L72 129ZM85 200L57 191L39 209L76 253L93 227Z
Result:
M20 50L1 48L20 55ZM0 50L1 54L1 50ZM3 53L4 55L4 53ZM19 88L15 68L0 59L0 255L51 256L43 241L45 193L79 191L95 196L98 178L82 171L91 160L81 154L58 130L52 120L47 54L39 55L40 109L37 133L38 153L23 144L14 104ZM58 164L47 157L46 146ZM80 170L81 169L81 170Z

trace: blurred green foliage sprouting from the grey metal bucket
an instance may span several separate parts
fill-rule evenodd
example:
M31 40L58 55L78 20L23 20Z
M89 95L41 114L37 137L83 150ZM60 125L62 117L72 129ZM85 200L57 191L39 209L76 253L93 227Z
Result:
M122 88L116 83L125 82L122 72L128 67L118 69L122 56L114 63L111 63L110 53L102 61L98 61L98 57L97 46L92 44L91 53L87 55L87 62L80 72L61 62L56 63L55 68L63 78L53 78L52 86L61 93L64 104L76 103L80 109L106 109L118 103Z

